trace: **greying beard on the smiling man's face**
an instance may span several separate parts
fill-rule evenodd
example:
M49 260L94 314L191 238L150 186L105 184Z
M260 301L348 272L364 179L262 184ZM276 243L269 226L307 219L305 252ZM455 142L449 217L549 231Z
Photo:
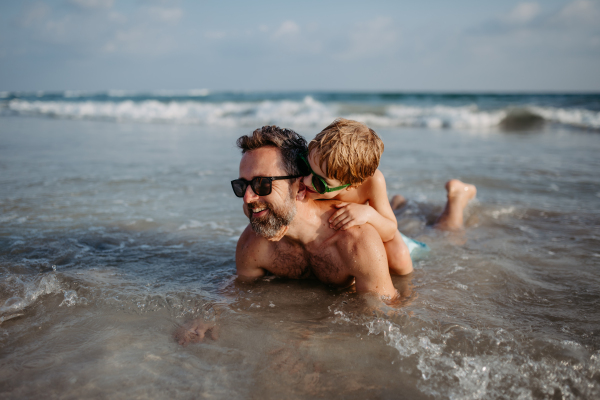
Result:
M265 239L271 239L277 236L283 227L290 225L296 216L296 201L291 195L292 192L290 190L290 197L281 207L275 207L273 204L266 202L255 201L254 203L249 203L247 207L250 216L248 218L250 219L252 230ZM269 210L267 215L263 217L252 216L253 209L264 207Z

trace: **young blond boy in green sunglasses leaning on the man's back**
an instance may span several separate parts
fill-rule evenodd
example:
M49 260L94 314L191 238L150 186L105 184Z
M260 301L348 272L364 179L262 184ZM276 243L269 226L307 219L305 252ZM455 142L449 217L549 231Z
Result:
M371 224L385 246L391 274L406 275L413 265L388 201L385 178L377 169L383 142L366 125L336 119L308 145L303 157L311 174L304 178L313 199L342 201L329 219L333 229Z

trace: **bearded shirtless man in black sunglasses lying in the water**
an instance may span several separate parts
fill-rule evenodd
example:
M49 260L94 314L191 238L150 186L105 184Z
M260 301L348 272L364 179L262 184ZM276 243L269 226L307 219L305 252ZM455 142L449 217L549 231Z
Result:
M387 298L396 295L377 231L369 224L336 231L328 222L336 202L305 197L297 163L306 151L302 137L265 126L238 139L238 147L243 154L240 179L232 185L250 219L236 248L239 279L254 280L268 271L287 278L316 277L338 287L354 283L358 292Z

